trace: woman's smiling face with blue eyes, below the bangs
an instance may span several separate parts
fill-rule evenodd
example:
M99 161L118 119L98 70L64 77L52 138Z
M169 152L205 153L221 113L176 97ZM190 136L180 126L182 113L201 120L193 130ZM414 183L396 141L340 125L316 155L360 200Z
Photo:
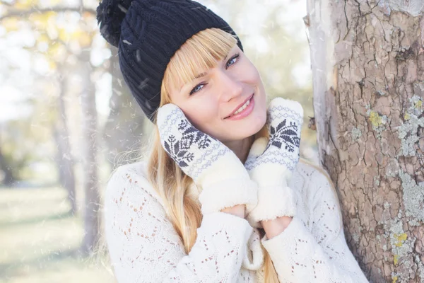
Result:
M237 45L216 67L199 70L197 77L170 91L172 103L194 127L225 142L250 137L264 126L264 84Z

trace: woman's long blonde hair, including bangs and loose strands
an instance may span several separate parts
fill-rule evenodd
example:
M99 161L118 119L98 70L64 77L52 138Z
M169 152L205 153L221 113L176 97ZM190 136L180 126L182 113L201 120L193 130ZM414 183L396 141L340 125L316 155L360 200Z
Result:
M160 106L171 102L170 89L179 89L181 83L187 83L194 79L199 70L215 67L216 60L223 59L236 44L235 37L217 28L202 30L184 42L184 45L177 50L170 60L165 71L160 93ZM267 135L268 131L264 127L255 135L255 139ZM324 173L318 166L302 158L301 161ZM147 165L148 180L162 197L163 204L167 209L167 216L182 239L184 250L188 254L196 242L196 230L201 224L201 207L188 195L189 187L193 183L192 178L177 166L160 144L157 125L154 127L153 143L151 144L150 155L147 158ZM334 189L329 176L326 173L324 175ZM335 189L334 192L336 192ZM101 252L107 250L104 236L101 236L98 247L98 255L104 256L105 253ZM263 247L262 250L264 251L262 268L265 282L279 282L269 253ZM104 260L102 260L102 264L106 267L108 265L105 264Z

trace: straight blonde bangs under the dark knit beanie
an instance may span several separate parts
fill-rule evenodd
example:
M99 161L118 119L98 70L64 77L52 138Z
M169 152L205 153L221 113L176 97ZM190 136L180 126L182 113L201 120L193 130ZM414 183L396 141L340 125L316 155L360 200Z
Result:
M219 28L208 28L190 37L167 65L162 82L160 105L170 103L170 89L179 89L202 71L216 67L228 55L237 39Z

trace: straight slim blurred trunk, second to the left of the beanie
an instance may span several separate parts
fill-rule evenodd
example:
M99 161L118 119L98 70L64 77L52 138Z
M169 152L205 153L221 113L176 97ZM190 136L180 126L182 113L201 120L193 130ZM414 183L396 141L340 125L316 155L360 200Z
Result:
M95 103L95 86L90 79L89 50L83 51L80 63L82 93L81 110L83 115L83 190L86 193L84 207L84 231L81 251L90 255L93 252L99 236L98 210L100 208L100 195L98 192L98 117ZM85 58L85 59L84 59Z

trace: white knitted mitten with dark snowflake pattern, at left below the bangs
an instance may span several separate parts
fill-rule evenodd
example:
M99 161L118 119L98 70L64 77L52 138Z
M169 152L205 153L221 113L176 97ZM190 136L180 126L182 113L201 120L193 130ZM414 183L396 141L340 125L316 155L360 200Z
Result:
M227 146L193 127L172 103L158 110L157 121L163 148L201 187L199 202L204 214L236 204L257 204L257 184Z

